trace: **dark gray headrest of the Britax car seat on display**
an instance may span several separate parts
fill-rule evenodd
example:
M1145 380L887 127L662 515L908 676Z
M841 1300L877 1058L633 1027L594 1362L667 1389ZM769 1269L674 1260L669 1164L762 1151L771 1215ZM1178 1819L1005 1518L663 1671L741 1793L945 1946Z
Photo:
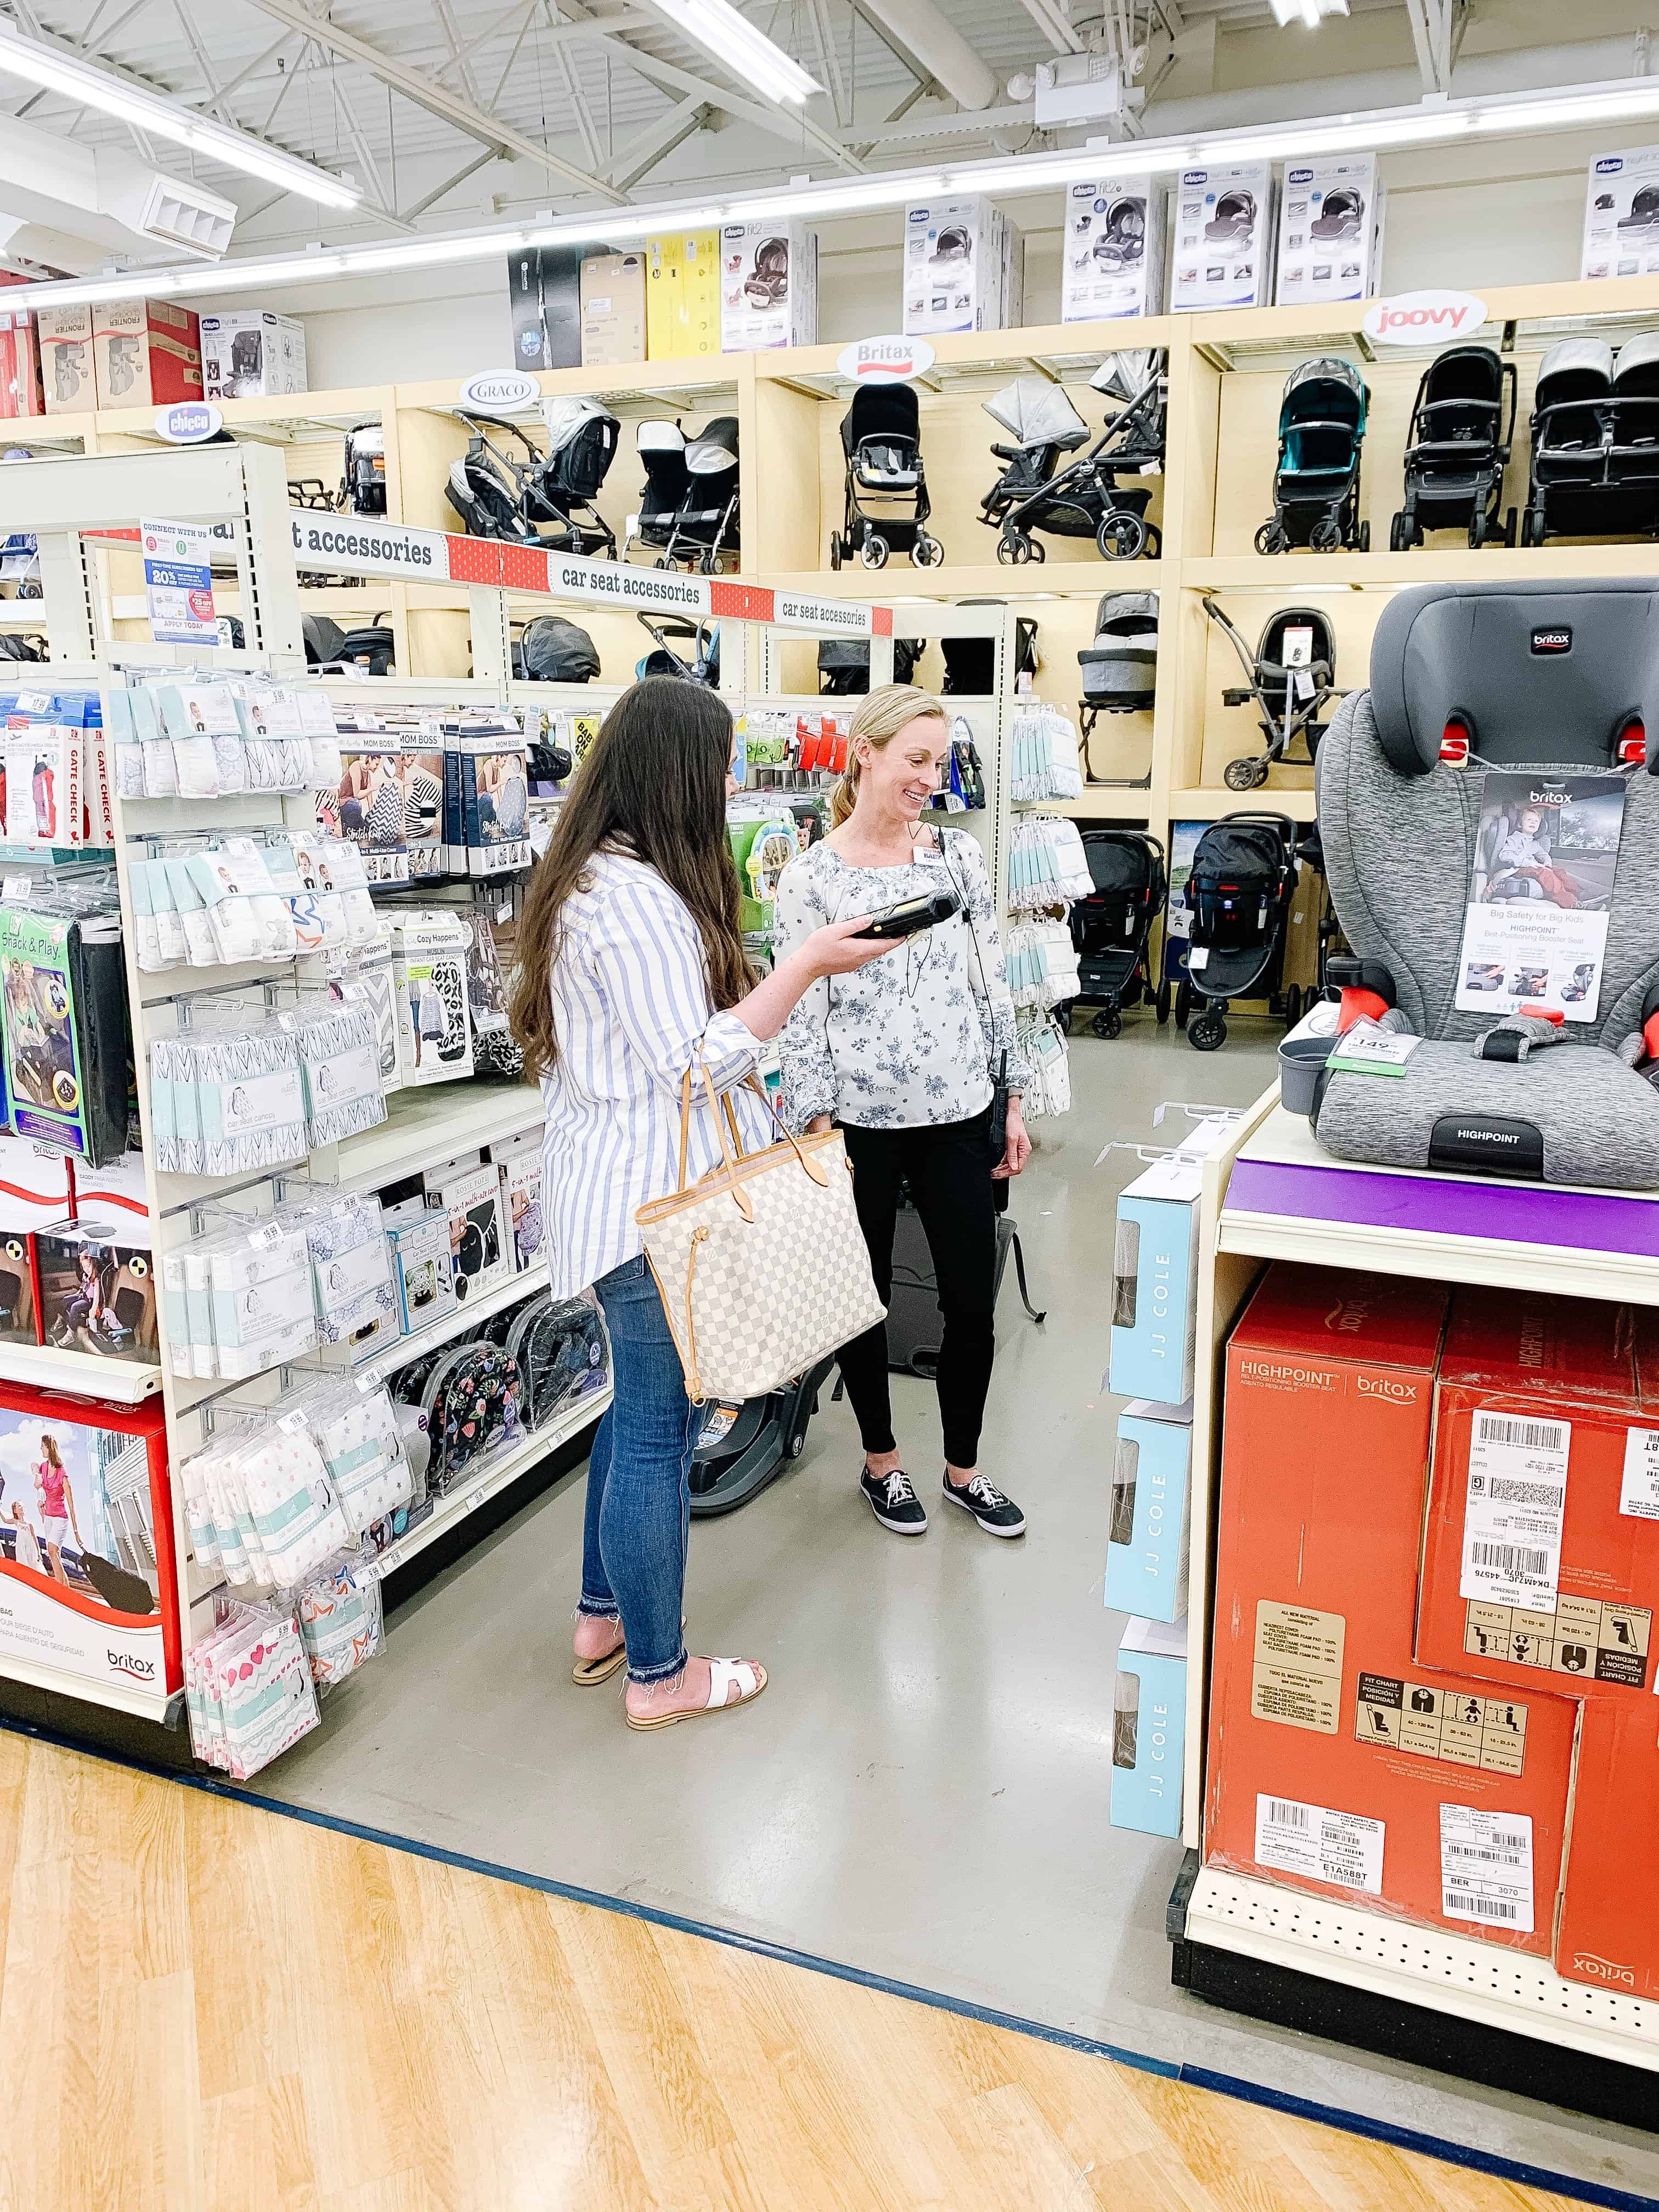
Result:
M1427 776L1449 732L1491 768L1613 768L1646 737L1659 774L1659 584L1400 591L1371 639L1371 714L1400 776Z

